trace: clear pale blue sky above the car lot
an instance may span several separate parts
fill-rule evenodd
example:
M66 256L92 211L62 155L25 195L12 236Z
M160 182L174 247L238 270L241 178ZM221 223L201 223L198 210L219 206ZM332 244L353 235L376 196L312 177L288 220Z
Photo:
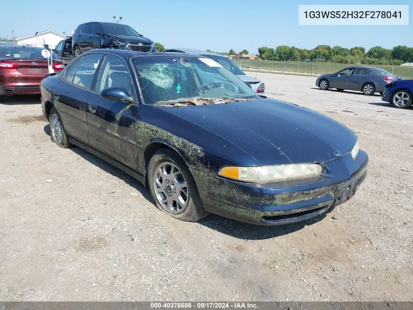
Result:
M85 22L113 22L122 16L139 33L165 48L211 49L217 52L276 48L279 45L315 48L320 44L345 48L413 47L412 0L19 0L19 15L2 14L0 37L24 37L36 31L59 33ZM48 5L50 3L50 5ZM63 2L62 2L63 3ZM299 4L410 4L409 25L314 26L298 24Z

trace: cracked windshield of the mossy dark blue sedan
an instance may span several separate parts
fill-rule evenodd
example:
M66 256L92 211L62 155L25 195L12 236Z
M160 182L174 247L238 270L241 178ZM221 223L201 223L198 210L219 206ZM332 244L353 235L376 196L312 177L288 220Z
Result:
M145 58L132 60L145 104L189 106L261 98L212 59L176 56Z

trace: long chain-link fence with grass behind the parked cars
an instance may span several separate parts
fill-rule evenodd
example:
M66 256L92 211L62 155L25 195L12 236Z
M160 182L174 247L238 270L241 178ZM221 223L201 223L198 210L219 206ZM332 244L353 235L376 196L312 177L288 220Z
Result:
M242 70L269 72L269 73L286 73L286 74L304 74L320 75L324 73L334 73L354 64L336 64L322 62L290 62L290 61L270 61L270 60L234 60ZM382 66L366 65L371 67L382 68L394 75L401 75L405 79L413 78L413 67L408 66Z

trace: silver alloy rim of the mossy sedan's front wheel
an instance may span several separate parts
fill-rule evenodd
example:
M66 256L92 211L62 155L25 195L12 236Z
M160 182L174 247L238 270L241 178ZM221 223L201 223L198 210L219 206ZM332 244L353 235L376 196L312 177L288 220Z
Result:
M153 188L156 199L168 213L179 214L188 206L188 182L173 163L163 162L155 169Z

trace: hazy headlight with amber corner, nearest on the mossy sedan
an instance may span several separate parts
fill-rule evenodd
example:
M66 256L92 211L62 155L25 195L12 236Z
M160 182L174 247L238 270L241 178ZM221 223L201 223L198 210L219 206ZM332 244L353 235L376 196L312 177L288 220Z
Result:
M291 164L278 166L222 167L220 176L249 183L269 183L297 180L321 175L318 164Z

